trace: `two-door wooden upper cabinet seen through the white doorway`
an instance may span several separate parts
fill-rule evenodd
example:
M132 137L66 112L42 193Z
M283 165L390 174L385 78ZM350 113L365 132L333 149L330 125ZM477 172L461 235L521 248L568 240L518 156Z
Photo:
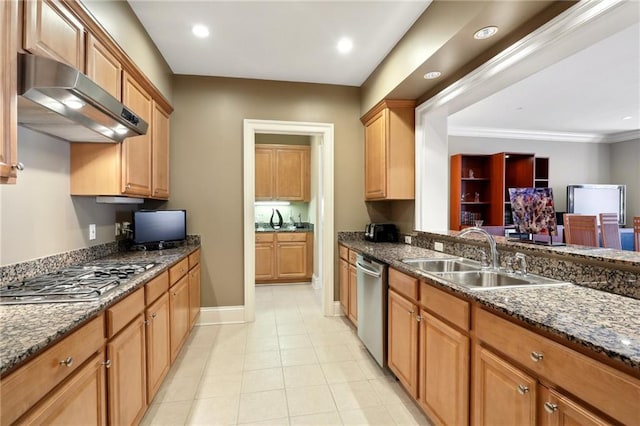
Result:
M311 147L256 145L256 200L311 201Z

